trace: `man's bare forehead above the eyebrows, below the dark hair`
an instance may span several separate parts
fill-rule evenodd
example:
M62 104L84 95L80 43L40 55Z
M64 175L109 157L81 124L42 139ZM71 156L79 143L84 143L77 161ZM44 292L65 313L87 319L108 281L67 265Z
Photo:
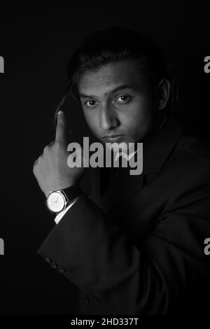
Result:
M101 66L97 70L85 71L78 81L81 94L109 94L119 85L132 85L135 89L145 84L144 73L137 60L120 61Z

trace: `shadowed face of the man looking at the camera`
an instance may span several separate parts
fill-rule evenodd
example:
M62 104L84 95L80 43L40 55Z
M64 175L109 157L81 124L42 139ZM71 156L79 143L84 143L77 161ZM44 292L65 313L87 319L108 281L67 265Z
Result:
M144 141L160 111L137 61L105 64L78 81L87 125L102 143Z

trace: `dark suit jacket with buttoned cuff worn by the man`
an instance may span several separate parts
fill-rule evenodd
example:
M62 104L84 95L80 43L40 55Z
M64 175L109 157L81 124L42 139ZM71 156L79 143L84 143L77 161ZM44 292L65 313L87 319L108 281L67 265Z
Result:
M123 168L103 183L92 169L91 198L80 197L38 250L78 286L78 314L208 309L209 150L169 118L143 158L139 176Z

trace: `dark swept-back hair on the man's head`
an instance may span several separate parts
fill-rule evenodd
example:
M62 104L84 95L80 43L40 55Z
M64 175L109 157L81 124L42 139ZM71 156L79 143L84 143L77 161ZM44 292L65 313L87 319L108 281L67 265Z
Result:
M149 87L154 87L161 78L168 78L172 86L169 107L174 103L178 97L177 83L172 75L172 66L162 50L151 36L120 27L109 27L85 36L85 43L69 59L69 88L66 95L71 91L73 97L79 99L78 78L85 71L125 59L138 60Z

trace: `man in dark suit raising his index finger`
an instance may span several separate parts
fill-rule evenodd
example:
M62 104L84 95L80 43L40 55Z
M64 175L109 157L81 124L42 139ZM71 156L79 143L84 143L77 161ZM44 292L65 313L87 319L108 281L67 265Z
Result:
M115 141L113 151L143 142L143 172L90 168L82 193L85 168L67 165L65 116L56 113L55 141L34 163L48 207L57 209L38 253L78 286L78 314L205 312L209 153L166 115L174 90L165 58L151 38L110 28L87 36L69 79L99 141ZM62 210L61 190L69 200Z

